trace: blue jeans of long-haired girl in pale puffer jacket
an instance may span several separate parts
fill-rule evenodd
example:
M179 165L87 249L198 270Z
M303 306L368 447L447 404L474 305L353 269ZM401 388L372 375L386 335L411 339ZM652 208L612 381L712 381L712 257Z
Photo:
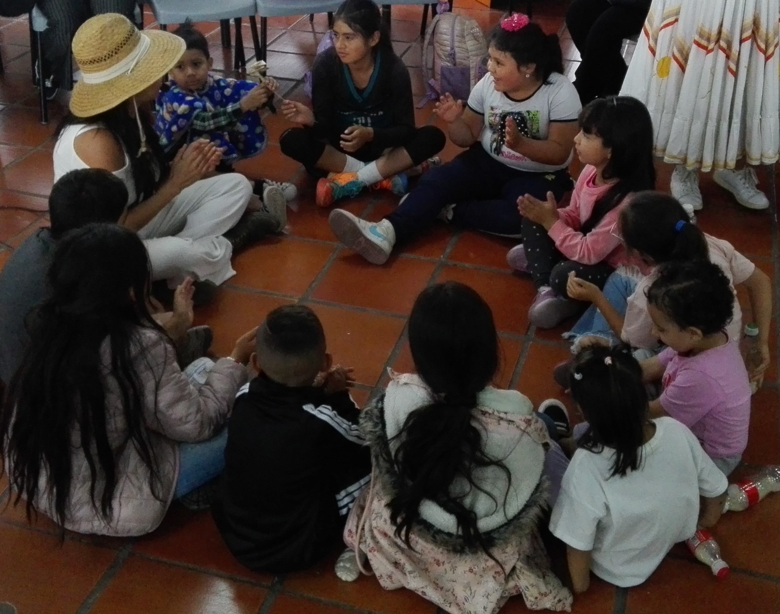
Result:
M206 382L208 372L214 367L210 358L198 358L184 370L184 374L195 388ZM179 444L179 477L173 498L179 499L188 492L213 480L225 469L225 445L228 443L228 428L205 442Z

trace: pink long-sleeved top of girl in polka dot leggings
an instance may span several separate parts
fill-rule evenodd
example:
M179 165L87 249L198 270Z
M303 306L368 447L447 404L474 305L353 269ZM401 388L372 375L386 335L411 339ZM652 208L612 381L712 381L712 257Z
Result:
M572 193L572 201L568 207L558 209L558 222L548 230L548 235L555 241L555 247L569 260L580 264L598 264L605 261L613 268L626 262L626 248L614 232L620 210L626 199L607 215L601 218L596 227L583 235L582 225L590 218L598 199L607 193L610 185L597 186L595 183L597 169L587 165L577 178Z

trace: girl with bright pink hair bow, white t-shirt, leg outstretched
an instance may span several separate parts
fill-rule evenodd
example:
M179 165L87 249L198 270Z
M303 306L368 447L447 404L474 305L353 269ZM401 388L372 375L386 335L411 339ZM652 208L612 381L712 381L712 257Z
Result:
M452 143L468 149L426 172L381 222L332 212L335 236L367 261L384 264L396 243L424 232L442 210L462 228L520 236L519 196L552 192L559 200L572 189L567 168L581 107L562 74L558 37L516 13L495 28L488 52L490 72L468 103L445 94L436 105Z

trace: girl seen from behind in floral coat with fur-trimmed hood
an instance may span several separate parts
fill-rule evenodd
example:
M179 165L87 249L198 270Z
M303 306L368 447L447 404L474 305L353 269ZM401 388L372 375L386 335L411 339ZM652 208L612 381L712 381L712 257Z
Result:
M527 396L491 385L500 350L490 307L463 284L430 286L414 303L409 345L417 373L392 373L360 416L374 472L346 544L382 587L450 614L498 612L515 594L530 609L568 611L572 595L538 533L548 430ZM358 563L345 552L336 573L354 580Z

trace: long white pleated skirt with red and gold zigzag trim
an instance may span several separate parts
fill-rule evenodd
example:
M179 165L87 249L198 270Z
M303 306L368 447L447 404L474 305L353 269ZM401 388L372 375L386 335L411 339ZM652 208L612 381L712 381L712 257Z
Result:
M780 0L653 0L622 95L653 118L655 154L689 169L780 151Z

